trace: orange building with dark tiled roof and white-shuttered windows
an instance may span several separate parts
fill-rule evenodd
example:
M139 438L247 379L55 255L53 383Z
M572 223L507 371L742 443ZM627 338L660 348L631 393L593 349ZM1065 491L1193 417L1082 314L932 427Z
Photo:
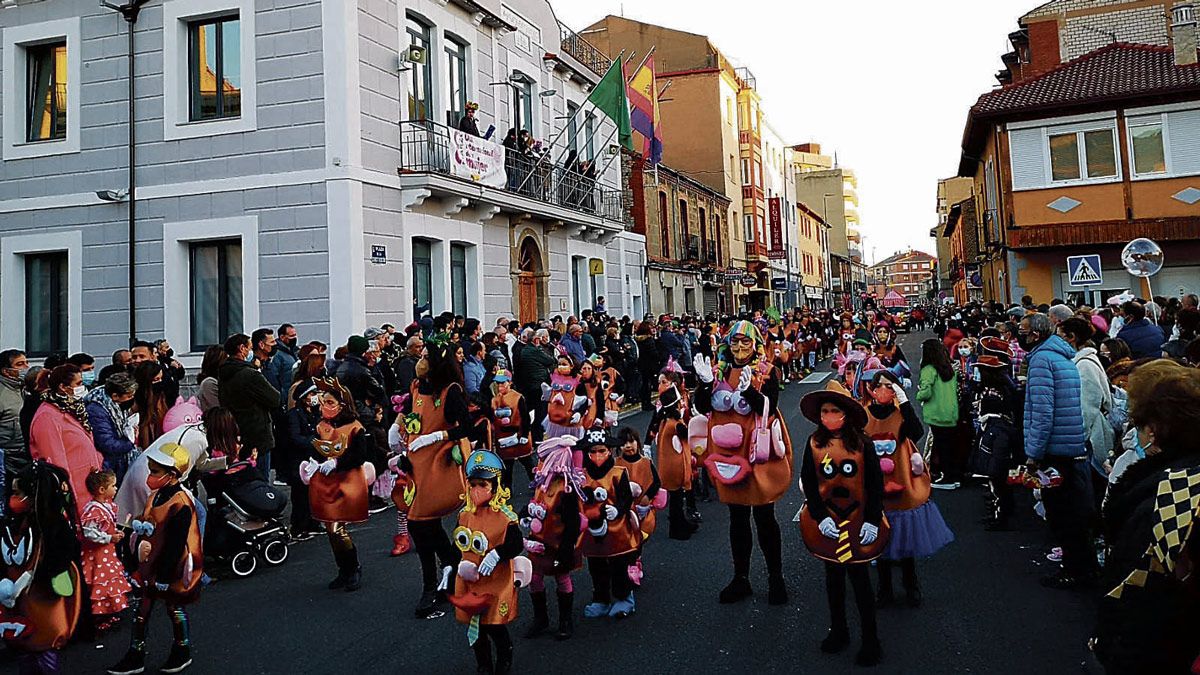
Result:
M985 298L1094 306L1124 291L1196 292L1200 65L1192 7L1108 2L1085 17L1073 13L1078 2L1050 5L1062 12L1036 10L1009 36L1006 84L980 96L964 133L959 175L973 180L982 215ZM1157 14L1168 8L1169 29ZM1126 25L1129 12L1147 12L1146 20ZM1087 47L1079 20L1120 23L1140 42L1076 55ZM1165 255L1152 288L1120 261L1141 237ZM1068 258L1081 255L1100 257L1099 279L1072 275Z

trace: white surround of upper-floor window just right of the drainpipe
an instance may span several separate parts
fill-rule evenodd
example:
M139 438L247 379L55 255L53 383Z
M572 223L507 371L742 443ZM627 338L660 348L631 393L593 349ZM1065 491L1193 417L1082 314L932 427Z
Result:
M191 22L236 13L241 41L241 117L191 119L187 31ZM162 136L164 141L208 138L258 129L258 68L254 0L168 0L162 6ZM68 118L70 121L70 118Z

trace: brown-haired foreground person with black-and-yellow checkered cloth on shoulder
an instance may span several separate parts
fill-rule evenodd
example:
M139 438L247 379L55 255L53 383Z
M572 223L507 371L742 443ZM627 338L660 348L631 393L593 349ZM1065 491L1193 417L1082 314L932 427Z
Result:
M1112 471L1103 509L1105 595L1091 641L1109 673L1189 673L1200 657L1196 401L1200 370L1159 359L1129 376L1126 454L1139 459Z

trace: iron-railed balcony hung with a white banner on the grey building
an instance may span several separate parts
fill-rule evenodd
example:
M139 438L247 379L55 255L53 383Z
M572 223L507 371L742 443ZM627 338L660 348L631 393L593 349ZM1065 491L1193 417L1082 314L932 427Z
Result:
M438 196L450 198L446 215L458 213L469 202L481 202L499 211L538 214L577 229L622 228L625 215L622 191L584 175L527 155L510 155L506 148L482 138L469 138L486 161L475 162L469 153L456 151L463 135L433 121L400 124L402 189L410 193L406 207ZM498 159L498 160L497 160ZM604 161L604 157L598 157ZM497 166L498 163L498 166Z

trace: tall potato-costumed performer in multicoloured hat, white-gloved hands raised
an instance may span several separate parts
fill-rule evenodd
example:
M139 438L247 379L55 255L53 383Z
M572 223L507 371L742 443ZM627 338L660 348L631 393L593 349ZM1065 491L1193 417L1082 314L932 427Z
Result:
M716 484L718 497L730 507L733 580L721 590L719 599L734 603L754 595L752 518L767 561L767 602L785 604L787 586L775 502L792 482L792 441L779 414L775 369L763 353L762 335L748 321L730 327L716 363L703 356L692 363L700 380L696 410L708 417L694 418L689 426L698 426L704 466Z

